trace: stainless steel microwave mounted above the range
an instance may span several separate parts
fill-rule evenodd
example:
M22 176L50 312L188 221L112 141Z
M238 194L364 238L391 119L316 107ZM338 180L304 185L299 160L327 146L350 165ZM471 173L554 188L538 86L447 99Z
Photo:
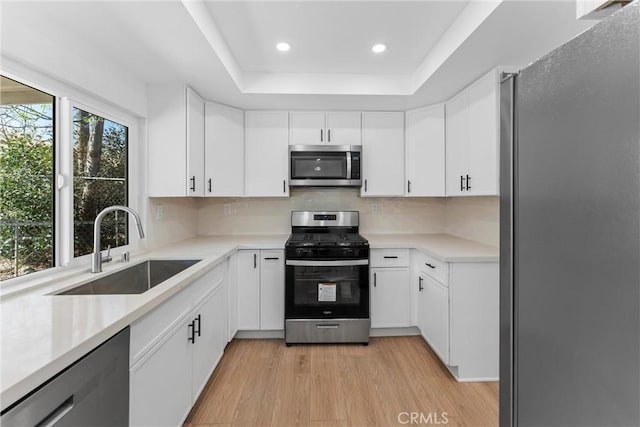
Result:
M290 145L292 187L360 187L361 145Z

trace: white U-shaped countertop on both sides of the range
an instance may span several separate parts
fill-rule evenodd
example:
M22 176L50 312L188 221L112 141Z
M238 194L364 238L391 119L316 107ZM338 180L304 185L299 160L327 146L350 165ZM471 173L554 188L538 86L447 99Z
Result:
M364 234L372 248L416 248L442 261L491 262L498 249L445 234ZM106 275L149 258L202 258L139 295L65 295L54 292L95 279L89 266L58 269L37 286L0 292L0 405L2 410L87 352L188 286L238 249L281 249L288 235L199 237L110 263ZM42 282L40 279L38 282Z

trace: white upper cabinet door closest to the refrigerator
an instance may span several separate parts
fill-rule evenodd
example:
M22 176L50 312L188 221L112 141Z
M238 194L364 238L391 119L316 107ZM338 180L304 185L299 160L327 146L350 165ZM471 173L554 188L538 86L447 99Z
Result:
M498 77L469 88L469 195L498 195Z

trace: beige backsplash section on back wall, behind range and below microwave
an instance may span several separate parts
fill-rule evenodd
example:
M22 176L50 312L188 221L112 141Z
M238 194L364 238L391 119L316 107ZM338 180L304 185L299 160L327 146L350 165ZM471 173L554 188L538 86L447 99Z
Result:
M289 198L198 200L198 234L288 234L292 210L357 210L362 233L441 233L440 198L361 198L359 189L291 189ZM224 214L228 204L231 214ZM372 212L371 205L377 205Z

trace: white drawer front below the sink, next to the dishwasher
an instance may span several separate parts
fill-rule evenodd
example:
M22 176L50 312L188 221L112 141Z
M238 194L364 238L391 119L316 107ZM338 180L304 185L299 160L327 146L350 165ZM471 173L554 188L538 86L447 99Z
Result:
M129 366L133 366L191 310L191 292L185 288L131 325Z

